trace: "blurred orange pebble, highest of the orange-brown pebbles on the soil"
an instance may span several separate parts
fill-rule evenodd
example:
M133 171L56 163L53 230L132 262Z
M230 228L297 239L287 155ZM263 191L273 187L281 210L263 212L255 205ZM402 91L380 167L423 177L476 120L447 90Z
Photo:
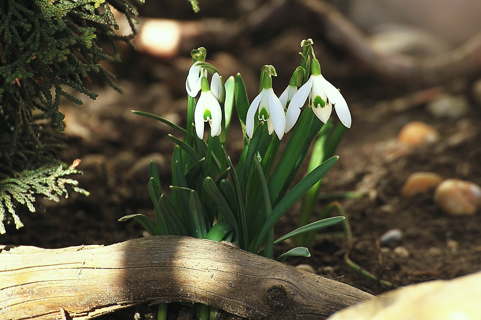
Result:
M424 143L437 142L439 140L439 132L424 122L412 121L399 131L397 140L409 146L418 147Z

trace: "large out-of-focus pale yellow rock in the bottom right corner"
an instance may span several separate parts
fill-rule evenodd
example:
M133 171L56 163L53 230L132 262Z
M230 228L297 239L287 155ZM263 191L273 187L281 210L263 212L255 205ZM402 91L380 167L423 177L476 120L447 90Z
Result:
M411 284L331 315L328 320L478 320L481 272Z

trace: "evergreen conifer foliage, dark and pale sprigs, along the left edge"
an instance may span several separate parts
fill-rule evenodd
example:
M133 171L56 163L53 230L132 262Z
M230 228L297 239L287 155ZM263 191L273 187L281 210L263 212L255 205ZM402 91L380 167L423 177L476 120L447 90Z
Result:
M131 35L114 34L118 25L112 8L127 18ZM82 104L66 87L95 99L97 94L83 85L90 72L122 91L100 61L118 59L115 41L130 44L136 15L127 0L0 1L0 222L5 218L4 203L17 227L21 225L11 197L32 211L33 193L55 200L46 191L57 192L52 181L60 190L63 183L75 185L74 180L59 180L62 172L74 173L58 169L56 160L63 147L56 130L63 130L60 99ZM102 52L99 41L113 48L113 57ZM60 172L53 174L52 164ZM45 177L53 180L47 183Z

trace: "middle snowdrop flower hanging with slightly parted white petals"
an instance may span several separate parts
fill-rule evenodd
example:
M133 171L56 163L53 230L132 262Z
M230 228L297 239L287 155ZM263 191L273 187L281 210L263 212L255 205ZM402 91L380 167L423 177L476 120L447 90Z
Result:
M269 134L276 131L280 140L284 135L286 116L282 104L274 93L274 90L272 90L272 78L270 73L264 75L263 89L259 95L254 98L251 106L247 110L245 129L249 138L252 138L252 135L254 134L254 116L255 111L257 110L259 110L259 121L266 121Z

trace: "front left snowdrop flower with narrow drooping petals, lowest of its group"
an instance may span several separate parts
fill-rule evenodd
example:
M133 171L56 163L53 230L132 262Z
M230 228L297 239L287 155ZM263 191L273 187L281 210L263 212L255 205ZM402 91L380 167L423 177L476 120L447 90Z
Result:
M204 136L204 122L209 122L212 137L220 134L222 122L222 110L217 98L209 89L206 77L201 78L201 90L194 110L195 132L199 139L203 139Z

